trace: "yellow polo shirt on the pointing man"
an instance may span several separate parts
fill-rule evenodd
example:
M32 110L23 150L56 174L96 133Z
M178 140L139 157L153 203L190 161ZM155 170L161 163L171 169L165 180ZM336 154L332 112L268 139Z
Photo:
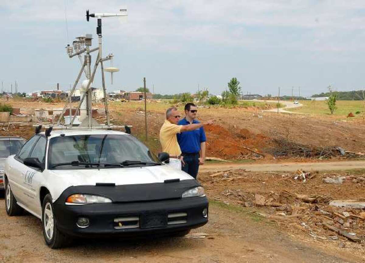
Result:
M180 133L181 126L182 125L176 125L165 120L160 130L162 152L167 152L169 155L181 154L180 146L176 138L176 134Z

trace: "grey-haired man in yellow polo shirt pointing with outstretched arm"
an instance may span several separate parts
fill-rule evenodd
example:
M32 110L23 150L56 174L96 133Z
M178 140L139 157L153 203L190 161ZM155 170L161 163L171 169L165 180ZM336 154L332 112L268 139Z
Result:
M166 111L166 120L160 130L160 142L162 146L162 152L169 153L170 156L180 156L181 150L177 142L176 134L181 132L187 132L195 129L199 129L204 125L213 124L213 120L209 120L205 123L194 123L189 125L177 125L179 118L178 110L176 107L170 107ZM184 161L181 159L184 163Z

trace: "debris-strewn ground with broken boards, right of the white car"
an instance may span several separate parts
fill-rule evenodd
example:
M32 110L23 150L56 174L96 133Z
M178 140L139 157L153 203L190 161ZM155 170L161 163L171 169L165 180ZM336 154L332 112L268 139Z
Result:
M246 214L274 221L291 235L336 247L365 244L365 174L227 170L199 180L210 199L247 207Z

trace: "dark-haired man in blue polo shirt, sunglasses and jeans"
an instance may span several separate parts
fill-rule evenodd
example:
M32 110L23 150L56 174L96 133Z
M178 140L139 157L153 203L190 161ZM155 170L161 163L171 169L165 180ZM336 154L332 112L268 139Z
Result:
M196 118L197 107L194 103L185 105L185 118L178 122L178 125L200 123ZM182 132L177 134L177 142L180 145L181 155L184 156L182 170L196 179L199 165L205 160L205 132L204 128Z

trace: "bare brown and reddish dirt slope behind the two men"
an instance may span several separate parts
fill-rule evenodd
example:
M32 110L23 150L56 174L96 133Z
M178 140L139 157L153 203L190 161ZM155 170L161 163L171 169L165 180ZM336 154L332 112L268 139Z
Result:
M21 112L25 114L32 114L34 108L61 108L63 106L62 102L9 100L7 103L20 107ZM147 111L149 136L147 144L155 152L161 150L159 131L165 120L165 109L170 106L160 104L151 102L147 105L151 109ZM104 122L103 104L97 103L93 107L99 108L100 114L97 118L100 122ZM111 123L133 125L132 133L143 140L145 125L142 110L142 103L112 102L110 103ZM264 160L273 160L273 149L278 147L273 143L273 138L278 137L307 148L339 146L346 151L365 153L365 122L361 119L350 120L333 116L314 118L310 115L267 113L251 108L217 107L199 108L198 119L200 121L215 119L215 125L205 127L208 156L241 160L258 159L261 157L257 153L263 153ZM32 130L32 128L24 128L25 135L21 134L22 129L9 129L11 132L15 131L10 135L20 135L26 138L31 135L31 132L27 132L27 130ZM280 150L276 152L280 152ZM282 158L295 159L296 156L295 154L284 155Z

